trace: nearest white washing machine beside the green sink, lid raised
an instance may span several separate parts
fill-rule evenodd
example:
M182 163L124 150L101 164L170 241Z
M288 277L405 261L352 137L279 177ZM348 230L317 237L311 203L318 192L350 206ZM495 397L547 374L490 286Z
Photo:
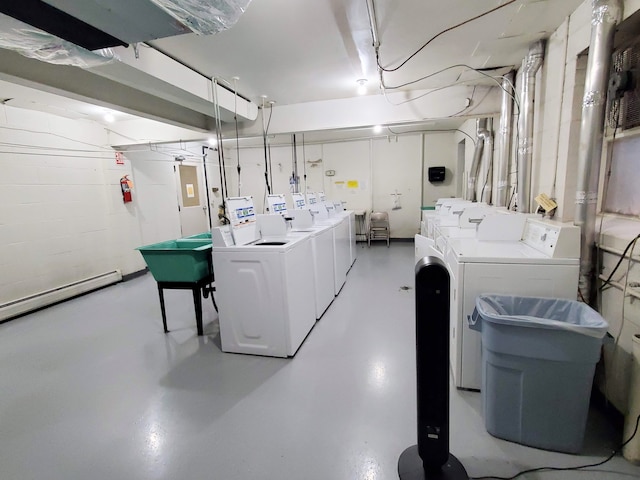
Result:
M227 208L234 244L213 248L222 350L293 356L316 321L311 238L261 241L251 197Z

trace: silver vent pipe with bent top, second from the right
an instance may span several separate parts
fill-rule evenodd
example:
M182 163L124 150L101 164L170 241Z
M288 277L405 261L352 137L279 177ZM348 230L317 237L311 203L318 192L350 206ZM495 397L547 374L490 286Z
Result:
M520 121L518 122L518 211L531 209L531 162L533 159L533 101L536 91L536 73L544 58L544 41L529 47L522 67L520 92Z

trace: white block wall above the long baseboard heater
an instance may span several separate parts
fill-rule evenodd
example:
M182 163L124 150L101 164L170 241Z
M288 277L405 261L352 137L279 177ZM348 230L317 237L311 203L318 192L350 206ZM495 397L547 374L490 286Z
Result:
M2 106L0 303L120 270L144 268L134 202L123 204L98 124Z

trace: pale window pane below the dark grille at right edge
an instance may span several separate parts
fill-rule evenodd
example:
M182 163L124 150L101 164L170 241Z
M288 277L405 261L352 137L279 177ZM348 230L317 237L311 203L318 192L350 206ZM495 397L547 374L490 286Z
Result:
M640 216L640 135L615 141L604 211Z

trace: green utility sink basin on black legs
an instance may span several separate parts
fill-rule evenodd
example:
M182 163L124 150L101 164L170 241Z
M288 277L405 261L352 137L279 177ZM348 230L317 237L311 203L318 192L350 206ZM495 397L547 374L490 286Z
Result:
M211 240L178 239L138 247L156 282L198 282L207 277Z

